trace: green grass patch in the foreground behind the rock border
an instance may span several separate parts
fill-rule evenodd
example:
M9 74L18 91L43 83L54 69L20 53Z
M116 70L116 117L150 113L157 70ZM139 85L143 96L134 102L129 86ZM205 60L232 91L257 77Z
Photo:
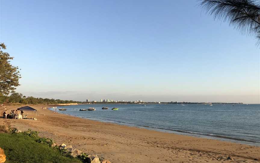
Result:
M82 163L23 134L0 133L0 147L5 151L5 163Z

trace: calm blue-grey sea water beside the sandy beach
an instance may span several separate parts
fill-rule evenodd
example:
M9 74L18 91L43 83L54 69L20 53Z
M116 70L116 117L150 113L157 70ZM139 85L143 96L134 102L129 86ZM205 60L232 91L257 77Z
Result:
M108 110L102 110L108 106ZM79 111L94 107L96 111ZM119 110L111 110L118 107ZM98 121L260 146L260 104L93 104L57 111ZM52 109L53 110L53 109Z

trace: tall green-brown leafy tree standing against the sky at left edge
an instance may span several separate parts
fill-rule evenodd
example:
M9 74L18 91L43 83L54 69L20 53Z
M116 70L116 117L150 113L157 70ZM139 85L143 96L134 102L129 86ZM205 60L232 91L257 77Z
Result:
M19 68L11 65L10 60L13 57L2 49L6 49L4 43L0 44L0 94L8 95L19 86L19 78L21 78Z

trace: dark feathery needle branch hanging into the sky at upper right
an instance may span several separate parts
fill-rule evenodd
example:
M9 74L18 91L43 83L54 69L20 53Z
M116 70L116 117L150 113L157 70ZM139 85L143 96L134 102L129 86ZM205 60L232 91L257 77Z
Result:
M214 19L228 21L242 34L254 35L260 43L260 4L255 0L201 0Z

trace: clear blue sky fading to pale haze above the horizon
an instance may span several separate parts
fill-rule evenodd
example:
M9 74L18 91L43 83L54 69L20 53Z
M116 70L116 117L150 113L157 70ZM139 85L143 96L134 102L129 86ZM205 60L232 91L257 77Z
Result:
M260 103L260 48L197 0L1 0L26 96Z

